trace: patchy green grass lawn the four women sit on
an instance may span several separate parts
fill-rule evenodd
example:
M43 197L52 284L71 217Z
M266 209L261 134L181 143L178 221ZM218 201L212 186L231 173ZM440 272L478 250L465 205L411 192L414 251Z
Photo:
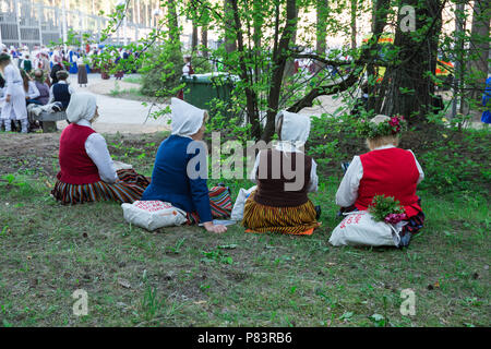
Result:
M152 173L158 143L108 140L116 159ZM53 158L52 168L57 169ZM333 248L339 178L311 198L311 237L224 234L197 227L147 232L117 203L61 206L53 177L0 181L0 326L489 326L489 197L420 191L426 227L410 246ZM230 182L233 194L247 182ZM479 194L480 193L480 194ZM75 316L72 293L88 294ZM411 289L416 315L399 312Z

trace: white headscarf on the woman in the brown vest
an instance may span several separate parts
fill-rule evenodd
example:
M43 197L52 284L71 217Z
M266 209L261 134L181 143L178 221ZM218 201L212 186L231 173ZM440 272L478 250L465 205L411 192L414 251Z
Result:
M278 146L285 151L296 152L301 148L309 139L310 117L283 110L276 116L276 129L278 128L279 119L282 117L282 140L279 141Z

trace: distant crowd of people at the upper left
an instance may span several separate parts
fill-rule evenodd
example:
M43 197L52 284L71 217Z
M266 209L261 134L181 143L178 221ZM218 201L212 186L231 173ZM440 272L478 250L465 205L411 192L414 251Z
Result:
M74 88L69 84L70 74L77 75L77 83L87 86L87 74L99 72L103 79L109 79L111 64L121 59L128 60L133 53L125 49L112 49L112 60L100 70L97 58L108 49L97 45L85 48L46 46L29 50L24 46L15 48L1 46L0 52L0 131L33 131L40 127L34 118L29 118L34 107L43 107L41 111L63 111L70 103ZM115 76L121 80L124 70ZM31 105L31 107L29 107Z

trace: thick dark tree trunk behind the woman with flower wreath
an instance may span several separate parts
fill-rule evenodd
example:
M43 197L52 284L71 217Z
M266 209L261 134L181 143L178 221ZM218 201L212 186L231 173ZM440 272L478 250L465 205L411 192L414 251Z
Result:
M418 40L410 32L400 29L398 17L394 46L399 49L400 63L388 67L383 86L384 105L382 113L403 115L410 125L421 125L432 111L434 75L438 58L438 38L442 26L441 0L427 0L423 5L419 0L405 0L403 5L412 5L416 10L416 27L421 28L429 21L431 25Z

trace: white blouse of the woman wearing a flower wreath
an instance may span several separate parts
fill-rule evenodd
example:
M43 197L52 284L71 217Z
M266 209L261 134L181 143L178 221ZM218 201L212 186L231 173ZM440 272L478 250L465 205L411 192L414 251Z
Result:
M395 147L394 145L390 144L378 147L374 151L388 149L394 147ZM411 152L411 154L412 156L415 156L415 153ZM419 184L424 179L424 172L421 166L419 165L418 160L416 159L416 156L415 161L419 172L419 178L417 182L417 184ZM348 170L346 171L345 177L343 178L343 181L340 182L339 188L337 189L336 205L340 207L349 207L352 204L355 204L355 202L358 198L358 188L360 186L360 181L362 178L363 178L363 166L361 165L360 157L356 155L352 158L352 161L349 164Z

